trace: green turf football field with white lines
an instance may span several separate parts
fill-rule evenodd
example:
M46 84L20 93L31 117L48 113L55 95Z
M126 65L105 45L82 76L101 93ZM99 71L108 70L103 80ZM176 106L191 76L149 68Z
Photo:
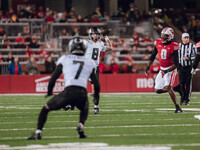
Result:
M178 97L179 98L179 97ZM87 139L75 130L79 111L49 113L43 139L27 141L35 131L43 96L0 96L0 149L49 143L107 143L110 146L165 146L170 149L200 149L200 94L193 94L184 113L175 114L167 94L101 94L100 114L90 112L85 124ZM11 148L10 147L10 148ZM19 148L20 149L20 148ZM105 148L106 149L106 148Z

